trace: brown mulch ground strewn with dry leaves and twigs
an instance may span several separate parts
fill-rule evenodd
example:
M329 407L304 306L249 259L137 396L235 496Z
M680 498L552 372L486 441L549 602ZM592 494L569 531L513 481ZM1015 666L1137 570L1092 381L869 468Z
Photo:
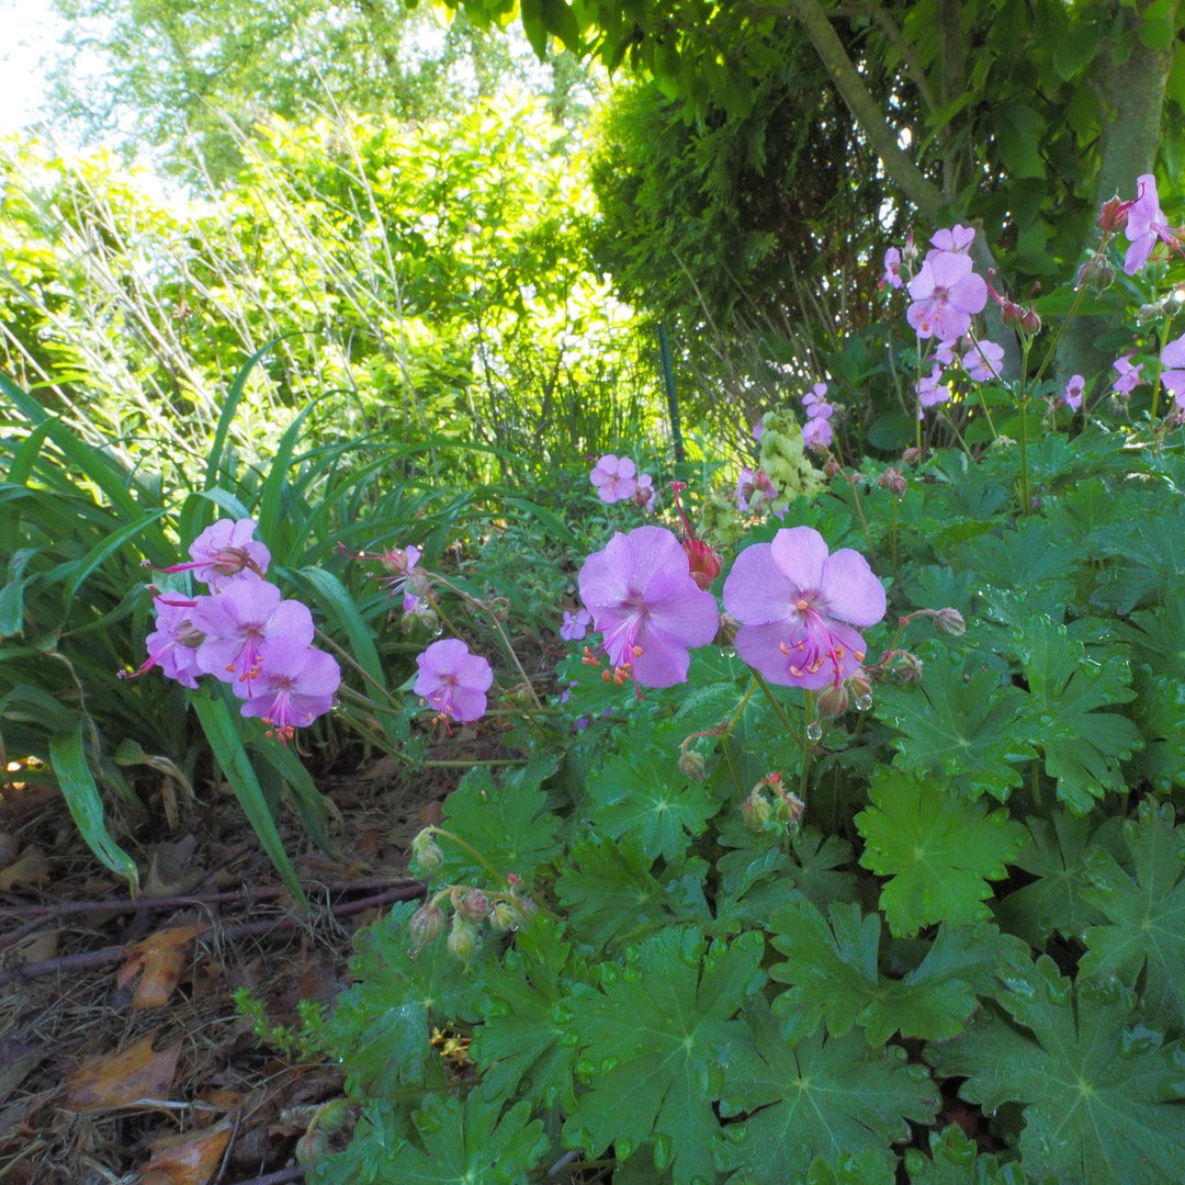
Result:
M261 1037L233 995L299 1031L300 1001L346 986L356 931L421 891L406 853L451 788L442 773L380 760L324 779L333 854L280 820L309 912L224 786L179 814L111 812L140 867L133 902L59 795L0 784L0 1181L300 1180L297 1144L340 1070Z

